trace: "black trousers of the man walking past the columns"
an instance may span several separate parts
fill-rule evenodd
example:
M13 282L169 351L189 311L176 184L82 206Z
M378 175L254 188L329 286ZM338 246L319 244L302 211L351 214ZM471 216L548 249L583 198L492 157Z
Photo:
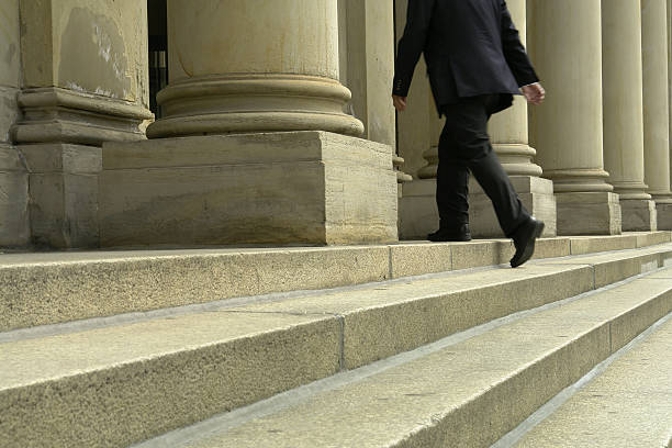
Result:
M441 107L446 125L439 139L436 182L441 228L453 229L469 223L469 171L492 201L506 236L511 237L529 219L488 135L488 121L499 103L499 94L488 94Z

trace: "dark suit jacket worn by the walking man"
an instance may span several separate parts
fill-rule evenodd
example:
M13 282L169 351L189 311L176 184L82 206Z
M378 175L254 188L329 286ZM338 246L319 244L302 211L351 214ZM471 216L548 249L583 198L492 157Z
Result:
M406 97L424 53L440 111L459 98L501 93L506 109L518 88L538 78L505 0L408 0L392 92Z

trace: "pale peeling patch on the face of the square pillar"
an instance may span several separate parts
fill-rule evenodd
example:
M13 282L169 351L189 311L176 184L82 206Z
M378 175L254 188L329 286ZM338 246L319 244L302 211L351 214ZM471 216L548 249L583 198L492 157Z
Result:
M132 78L116 24L87 9L72 9L63 34L58 76L61 86L70 82L91 93L130 99Z

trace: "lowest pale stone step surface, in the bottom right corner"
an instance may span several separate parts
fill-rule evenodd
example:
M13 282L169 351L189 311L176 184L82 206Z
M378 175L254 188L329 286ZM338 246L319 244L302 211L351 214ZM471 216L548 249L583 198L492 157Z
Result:
M672 318L651 329L515 446L670 447Z

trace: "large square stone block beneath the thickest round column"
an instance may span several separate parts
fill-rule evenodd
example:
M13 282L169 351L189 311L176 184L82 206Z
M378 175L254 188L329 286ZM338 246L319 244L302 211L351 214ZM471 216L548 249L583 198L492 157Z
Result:
M312 131L107 143L101 246L392 243L392 157Z

